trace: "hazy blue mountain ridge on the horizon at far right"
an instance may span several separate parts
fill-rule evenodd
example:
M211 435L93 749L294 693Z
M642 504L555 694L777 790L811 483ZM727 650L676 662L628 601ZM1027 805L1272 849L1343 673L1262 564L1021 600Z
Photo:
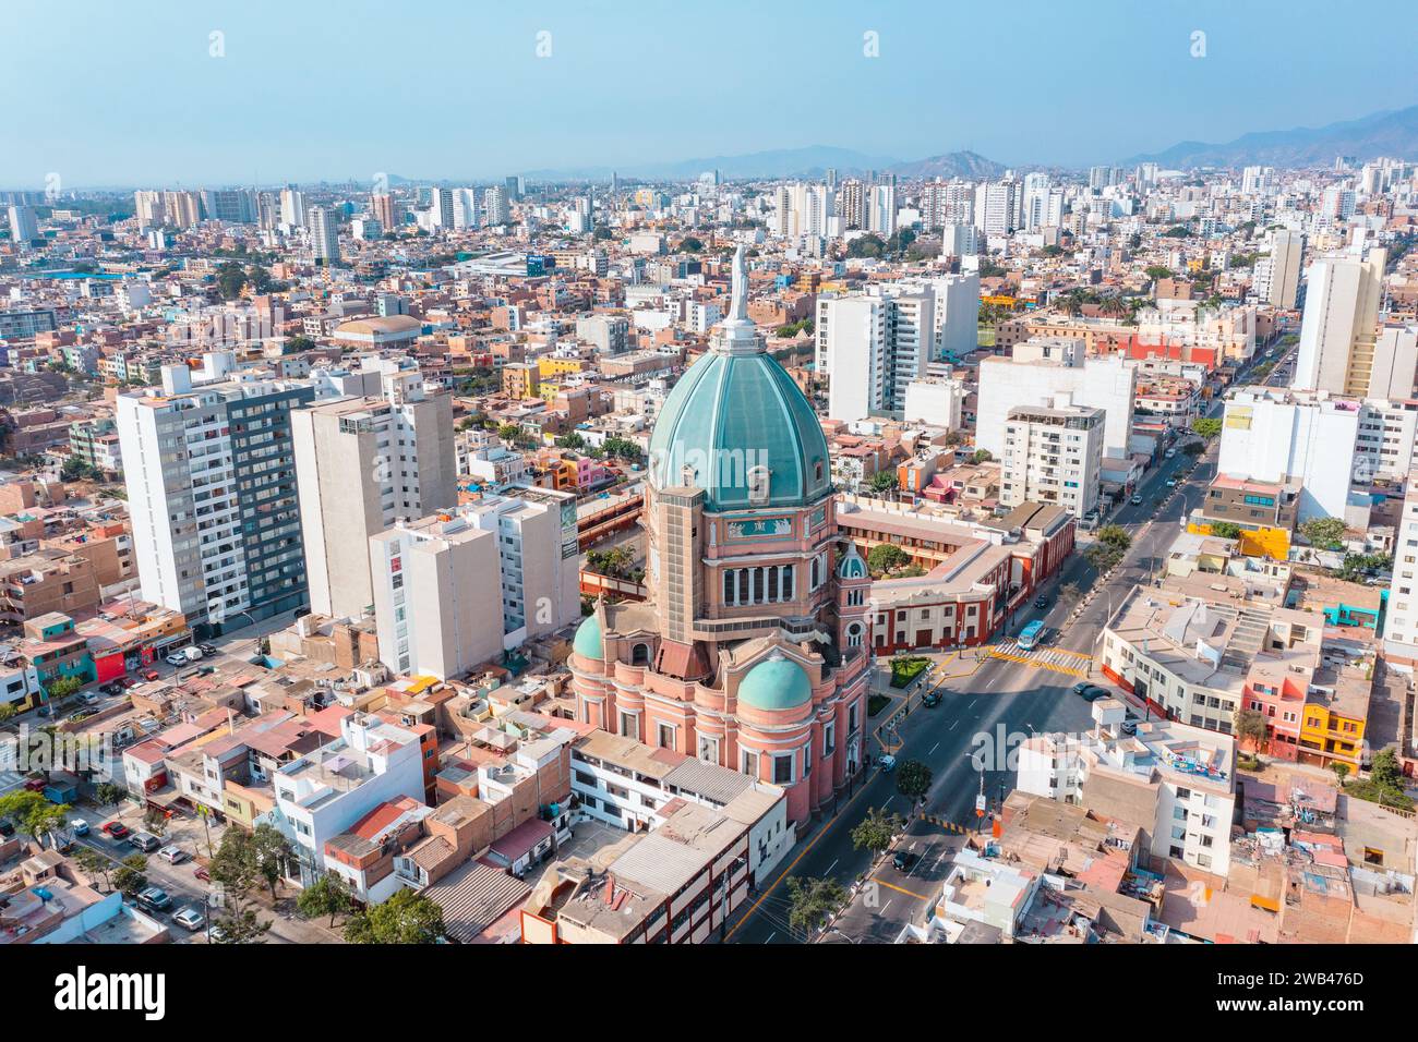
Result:
M1177 170L1248 164L1303 167L1332 166L1336 156L1418 159L1418 105L1327 126L1246 133L1224 145L1180 142L1164 152L1133 156L1123 164L1160 163Z

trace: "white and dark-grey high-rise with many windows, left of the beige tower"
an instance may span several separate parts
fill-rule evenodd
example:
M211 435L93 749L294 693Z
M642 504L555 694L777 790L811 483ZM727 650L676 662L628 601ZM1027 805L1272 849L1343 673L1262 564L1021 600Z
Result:
M305 604L291 411L313 398L298 381L193 386L186 366L164 366L160 388L118 396L143 600L199 632Z

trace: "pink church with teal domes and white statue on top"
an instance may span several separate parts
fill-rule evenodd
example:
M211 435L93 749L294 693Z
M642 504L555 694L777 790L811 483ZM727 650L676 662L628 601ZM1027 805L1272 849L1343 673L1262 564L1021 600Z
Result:
M571 689L584 723L781 787L803 822L865 764L871 577L818 418L747 318L743 247L732 272L651 435L649 597L596 605Z

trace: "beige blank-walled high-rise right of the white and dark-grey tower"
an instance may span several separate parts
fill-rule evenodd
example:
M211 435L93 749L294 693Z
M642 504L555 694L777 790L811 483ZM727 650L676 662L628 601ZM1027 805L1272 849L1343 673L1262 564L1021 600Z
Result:
M374 604L370 536L458 502L452 400L417 366L383 362L380 383L291 415L311 610L335 618Z

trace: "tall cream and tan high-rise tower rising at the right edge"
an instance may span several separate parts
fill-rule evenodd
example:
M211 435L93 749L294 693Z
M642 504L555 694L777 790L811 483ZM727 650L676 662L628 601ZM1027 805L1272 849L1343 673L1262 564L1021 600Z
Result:
M1310 265L1295 364L1296 390L1368 396L1387 251L1324 257Z

